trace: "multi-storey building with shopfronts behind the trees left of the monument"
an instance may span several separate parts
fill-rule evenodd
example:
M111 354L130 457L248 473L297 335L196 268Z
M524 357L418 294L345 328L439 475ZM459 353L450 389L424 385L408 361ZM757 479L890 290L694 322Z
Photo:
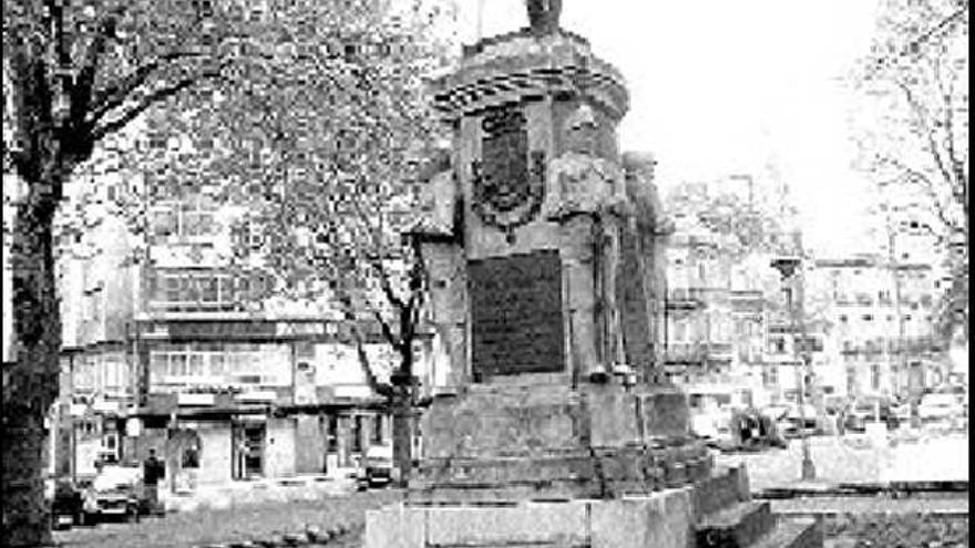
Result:
M135 237L110 196L88 200L58 261L59 473L141 463L154 449L166 488L186 492L338 474L391 443L377 386L399 355L376 323L356 321L353 335L325 299L280 297L260 265L234 259L246 210L205 193L158 201ZM413 349L425 391L431 348L421 334Z

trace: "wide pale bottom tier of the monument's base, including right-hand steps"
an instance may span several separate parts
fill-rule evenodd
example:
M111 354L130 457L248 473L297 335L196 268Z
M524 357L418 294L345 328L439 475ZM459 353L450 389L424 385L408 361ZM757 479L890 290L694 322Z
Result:
M613 499L407 502L370 510L366 548L820 548L822 525L750 498L743 468Z

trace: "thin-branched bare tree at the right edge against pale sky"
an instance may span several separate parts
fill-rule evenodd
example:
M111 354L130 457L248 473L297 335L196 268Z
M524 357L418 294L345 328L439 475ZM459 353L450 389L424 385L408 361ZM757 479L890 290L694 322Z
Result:
M889 211L938 238L953 275L945 319L967 331L968 0L887 0L852 79L861 167Z

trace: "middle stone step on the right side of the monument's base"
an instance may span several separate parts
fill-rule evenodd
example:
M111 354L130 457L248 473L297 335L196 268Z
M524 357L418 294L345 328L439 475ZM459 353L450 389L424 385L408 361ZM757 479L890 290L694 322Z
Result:
M772 530L776 517L763 500L733 504L705 516L697 526L698 548L745 548Z

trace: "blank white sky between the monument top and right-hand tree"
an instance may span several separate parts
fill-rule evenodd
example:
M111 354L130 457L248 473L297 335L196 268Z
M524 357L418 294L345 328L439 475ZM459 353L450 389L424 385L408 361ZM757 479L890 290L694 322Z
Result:
M458 0L461 37L478 0ZM876 0L564 0L562 27L619 68L632 94L624 149L650 151L659 184L778 172L821 252L860 247L869 183L850 167L842 76L869 48ZM523 27L524 0L483 0L484 34Z

